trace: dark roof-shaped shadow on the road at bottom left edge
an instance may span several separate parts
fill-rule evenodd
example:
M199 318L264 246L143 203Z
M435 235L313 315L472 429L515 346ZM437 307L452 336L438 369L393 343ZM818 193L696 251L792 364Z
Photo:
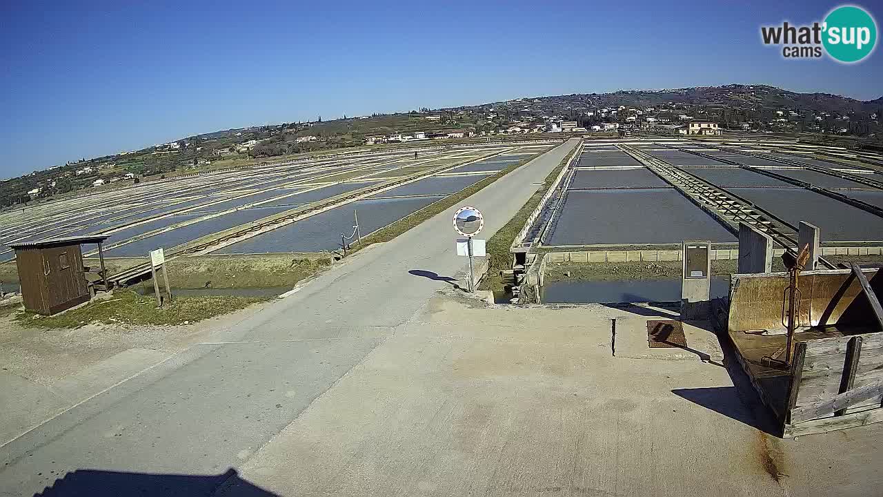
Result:
M274 497L230 468L218 475L170 475L127 473L121 471L76 470L57 479L35 497L117 497L120 495L150 495L151 497L205 496L215 494L220 486L235 488L233 495L245 497Z

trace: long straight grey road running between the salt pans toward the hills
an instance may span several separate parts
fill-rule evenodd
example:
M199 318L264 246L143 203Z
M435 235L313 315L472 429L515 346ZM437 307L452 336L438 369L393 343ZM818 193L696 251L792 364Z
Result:
M470 197L466 203L487 218L482 236L503 226L576 145L570 140ZM0 495L49 486L57 495L213 493L230 479L226 470L250 459L449 286L442 277L463 275L453 212L357 254L211 340L6 443ZM346 409L353 408L373 406ZM156 476L169 474L182 476Z

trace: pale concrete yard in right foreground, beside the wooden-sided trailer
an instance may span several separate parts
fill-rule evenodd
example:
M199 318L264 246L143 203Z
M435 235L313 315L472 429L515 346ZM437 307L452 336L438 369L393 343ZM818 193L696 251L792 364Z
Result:
M670 312L438 295L219 493L870 495L883 483L879 425L775 438L710 333L688 331L688 345L718 355L706 363L613 356L612 317L624 332ZM645 328L638 341L647 350Z

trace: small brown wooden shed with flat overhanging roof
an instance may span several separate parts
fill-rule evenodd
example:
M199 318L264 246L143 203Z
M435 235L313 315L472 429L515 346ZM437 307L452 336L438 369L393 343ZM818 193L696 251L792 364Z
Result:
M57 238L53 240L11 243L19 267L21 297L25 309L49 316L88 302L92 298L83 267L82 243L97 243L102 261L102 242L106 235Z

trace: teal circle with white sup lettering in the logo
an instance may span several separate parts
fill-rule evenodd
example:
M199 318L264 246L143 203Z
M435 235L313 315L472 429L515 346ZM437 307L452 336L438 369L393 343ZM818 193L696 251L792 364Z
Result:
M877 45L877 23L861 7L837 7L827 15L822 29L825 50L840 62L858 62Z

